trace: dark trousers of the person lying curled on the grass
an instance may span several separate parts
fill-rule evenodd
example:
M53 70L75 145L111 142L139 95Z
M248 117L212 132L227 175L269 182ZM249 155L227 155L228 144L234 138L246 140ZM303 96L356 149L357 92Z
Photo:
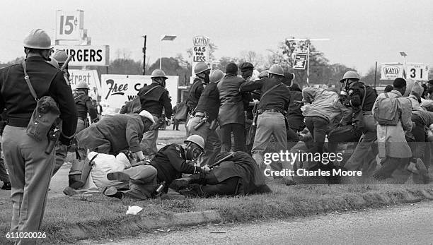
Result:
M204 179L206 185L201 186L201 188L205 196L235 195L239 179L239 177L231 177L219 182L214 174L209 173Z

